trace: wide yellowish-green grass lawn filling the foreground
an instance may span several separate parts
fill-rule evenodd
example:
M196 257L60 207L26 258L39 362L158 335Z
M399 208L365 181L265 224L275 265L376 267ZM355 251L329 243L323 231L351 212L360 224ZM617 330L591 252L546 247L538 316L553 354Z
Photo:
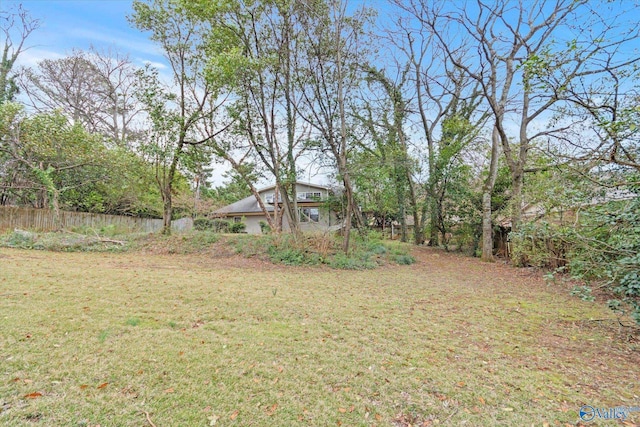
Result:
M640 406L640 345L602 303L414 255L336 271L0 249L0 425L564 426Z

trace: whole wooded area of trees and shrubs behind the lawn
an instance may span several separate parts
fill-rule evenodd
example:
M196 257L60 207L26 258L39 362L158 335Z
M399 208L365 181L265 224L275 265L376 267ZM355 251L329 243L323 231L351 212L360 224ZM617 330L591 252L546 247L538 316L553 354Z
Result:
M168 233L266 180L288 196L270 228L286 216L299 235L295 182L322 167L345 252L351 227L395 222L491 261L500 226L514 263L602 280L640 319L637 2L132 9L169 75L97 50L17 68L42 22L2 12L1 205L161 216ZM211 188L214 161L228 185Z

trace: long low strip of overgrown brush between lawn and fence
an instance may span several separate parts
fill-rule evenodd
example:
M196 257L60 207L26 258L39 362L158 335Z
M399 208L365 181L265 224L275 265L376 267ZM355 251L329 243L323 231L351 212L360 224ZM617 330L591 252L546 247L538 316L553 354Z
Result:
M348 270L372 269L385 264L408 265L415 262L408 252L409 245L384 241L379 234L373 232L354 237L351 250L345 254L341 249L342 238L331 233L305 234L296 239L290 234L238 234L223 237L211 230L194 230L170 236L116 234L116 231L112 228L49 233L16 230L0 236L0 246L63 252L146 250L167 254L196 254L211 251L224 253L224 248L230 245L237 254L269 260L276 264L328 265Z

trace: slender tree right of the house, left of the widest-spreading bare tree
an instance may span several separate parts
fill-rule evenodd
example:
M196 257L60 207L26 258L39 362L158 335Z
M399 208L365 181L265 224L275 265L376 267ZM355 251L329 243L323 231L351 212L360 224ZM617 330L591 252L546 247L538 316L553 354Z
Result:
M443 223L446 185L443 184L448 178L444 171L477 136L486 114L477 114L482 101L478 96L477 83L455 66L433 30L420 23L423 16L419 4L399 0L394 0L394 3L405 14L400 15L387 30L386 39L394 51L400 53L394 55L397 67L407 70L407 113L418 116L418 128L424 137L419 146L426 146L427 153L428 178L421 184L426 201L422 203L421 215L414 212L415 237L418 243L424 240L418 230L424 229L429 212L429 244L437 245L438 231L446 235ZM461 42L457 55L464 56L466 50L464 42ZM451 126L462 122L464 126ZM457 147L455 153L452 152L454 147Z

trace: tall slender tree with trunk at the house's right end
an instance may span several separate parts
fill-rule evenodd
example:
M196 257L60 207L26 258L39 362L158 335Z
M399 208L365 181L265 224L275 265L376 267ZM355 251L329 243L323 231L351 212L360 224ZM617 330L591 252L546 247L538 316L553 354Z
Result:
M314 129L321 150L331 154L344 185L346 214L343 250L349 251L351 223L364 226L356 203L350 170L350 138L354 132L348 117L353 108L348 94L363 82L367 53L366 29L370 13L361 8L347 14L347 1L311 1L296 9L304 47L296 58L302 102L297 105L303 119ZM352 97L353 99L353 97Z

